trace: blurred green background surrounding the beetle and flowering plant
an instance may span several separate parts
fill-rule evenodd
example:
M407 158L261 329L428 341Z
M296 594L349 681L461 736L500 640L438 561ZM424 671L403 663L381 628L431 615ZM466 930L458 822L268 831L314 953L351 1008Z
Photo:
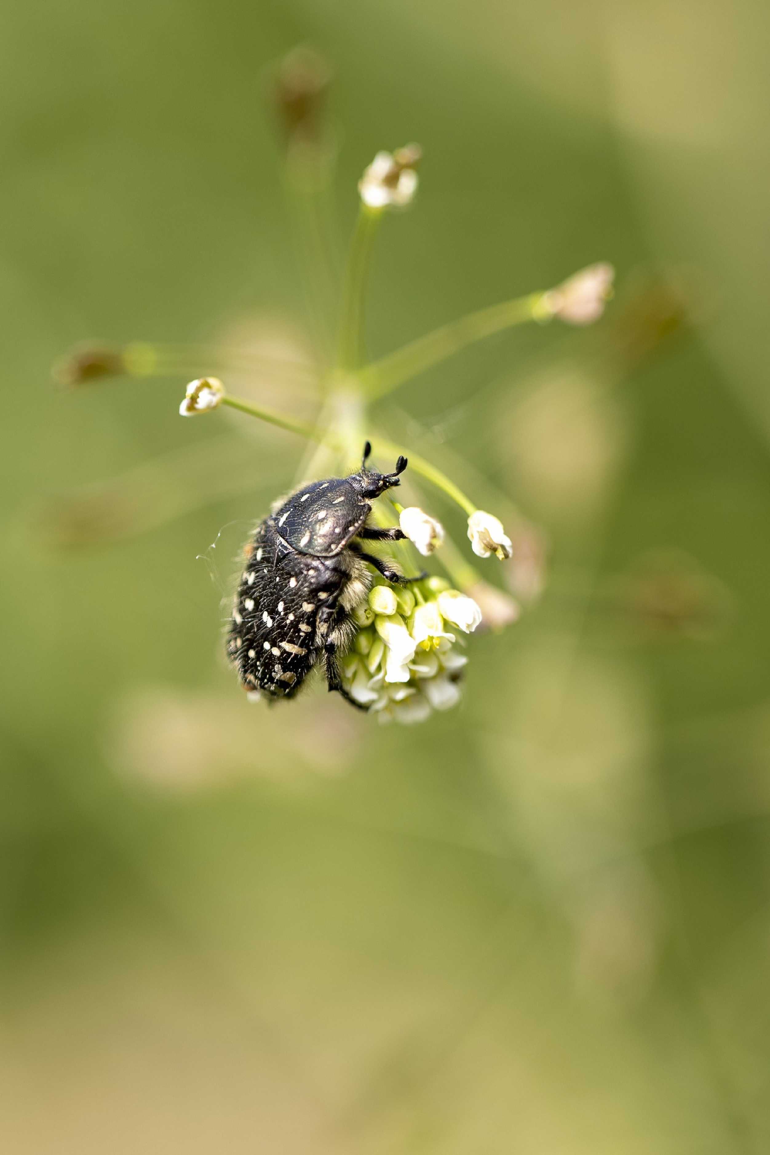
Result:
M3 8L3 1150L770 1149L769 29L758 0ZM298 42L335 69L342 237L375 150L425 149L375 352L618 269L595 328L394 397L548 547L412 729L268 714L223 666L296 439L180 422L181 377L50 378L91 337L301 360L266 106ZM62 547L124 474L114 541Z

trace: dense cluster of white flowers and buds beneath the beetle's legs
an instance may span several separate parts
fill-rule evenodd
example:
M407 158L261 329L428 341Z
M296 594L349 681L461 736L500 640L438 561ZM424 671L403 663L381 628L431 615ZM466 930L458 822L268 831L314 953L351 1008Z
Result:
M381 722L425 722L432 710L457 705L468 658L447 627L476 629L481 611L473 598L450 589L441 578L409 588L382 583L353 617L359 628L341 661L351 698Z

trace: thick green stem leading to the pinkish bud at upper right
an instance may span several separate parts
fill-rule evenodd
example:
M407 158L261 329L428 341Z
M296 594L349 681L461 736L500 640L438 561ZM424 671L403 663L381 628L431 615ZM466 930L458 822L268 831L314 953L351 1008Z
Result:
M474 341L492 336L493 333L500 333L515 325L524 325L526 321L550 320L544 298L543 292L516 297L500 305L469 313L457 321L442 325L433 333L426 333L417 341L411 341L403 349L397 349L361 370L359 375L366 395L369 398L382 397L410 378L417 377L432 365L438 365Z

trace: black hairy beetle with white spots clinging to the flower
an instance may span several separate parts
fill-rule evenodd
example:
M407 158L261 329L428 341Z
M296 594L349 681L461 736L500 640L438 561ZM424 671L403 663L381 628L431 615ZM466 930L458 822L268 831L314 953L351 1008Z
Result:
M391 582L418 580L404 578L360 544L406 536L396 527L367 524L371 500L398 485L406 469L406 459L399 457L393 474L369 470L371 452L367 441L357 474L292 493L260 522L246 546L227 654L247 692L293 698L322 658L329 690L366 709L344 688L337 653L344 653L356 632L351 614L372 582L367 564Z

